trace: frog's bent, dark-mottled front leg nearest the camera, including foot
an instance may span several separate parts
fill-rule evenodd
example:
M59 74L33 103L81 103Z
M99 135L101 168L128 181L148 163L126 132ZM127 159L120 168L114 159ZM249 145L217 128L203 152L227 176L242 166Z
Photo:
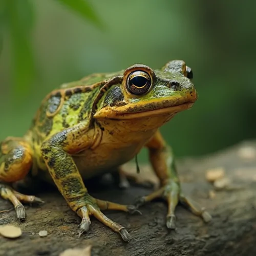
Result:
M120 233L124 241L129 241L131 236L126 229L103 215L100 209L116 209L133 213L136 207L106 202L90 196L72 158L72 154L92 145L93 134L93 130L88 131L87 123L80 123L57 133L42 144L42 157L60 193L71 209L82 218L79 235L83 231L88 231L91 224L89 216L93 215L100 222Z

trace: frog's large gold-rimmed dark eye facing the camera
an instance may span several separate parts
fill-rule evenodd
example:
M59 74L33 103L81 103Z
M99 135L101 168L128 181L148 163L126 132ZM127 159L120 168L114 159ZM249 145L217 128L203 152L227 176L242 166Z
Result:
M145 71L134 71L127 77L126 88L132 94L144 94L150 90L151 86L151 76Z

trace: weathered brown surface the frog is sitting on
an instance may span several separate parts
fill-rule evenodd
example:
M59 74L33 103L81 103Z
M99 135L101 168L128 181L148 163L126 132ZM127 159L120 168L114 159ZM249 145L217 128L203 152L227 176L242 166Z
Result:
M167 230L165 216L167 207L155 201L140 208L142 215L105 211L106 216L129 230L133 240L121 241L117 233L92 218L90 231L77 235L79 218L67 206L58 191L46 189L37 196L45 201L39 206L26 206L27 219L20 223L15 219L11 204L0 199L0 225L20 227L21 237L10 240L0 237L0 255L59 255L69 248L92 246L96 255L256 255L256 156L243 157L241 148L256 149L256 143L245 142L214 155L178 161L179 175L185 194L202 204L213 219L205 224L178 206L177 229ZM245 150L244 150L245 151ZM207 169L224 168L230 187L215 191L206 181ZM135 173L134 165L126 169ZM148 166L141 166L141 175L154 180ZM151 189L131 186L120 190L113 183L98 185L90 190L99 199L132 204L138 196L148 194ZM38 236L47 230L48 236Z

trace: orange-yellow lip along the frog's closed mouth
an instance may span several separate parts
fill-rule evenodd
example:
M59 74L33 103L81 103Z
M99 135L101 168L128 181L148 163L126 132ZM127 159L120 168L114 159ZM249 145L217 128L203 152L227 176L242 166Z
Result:
M137 107L132 108L132 106L129 106L129 108L119 107L119 108L113 108L113 107L106 107L104 109L101 109L99 112L97 112L94 115L94 118L96 119L120 119L120 120L127 120L127 119L135 119L135 118L143 118L143 117L149 117L149 116L161 116L161 115L173 115L178 112L181 112L183 110L190 109L191 106L193 106L194 102L186 102L179 105L174 106L162 106L157 109L147 109L147 110L137 110Z

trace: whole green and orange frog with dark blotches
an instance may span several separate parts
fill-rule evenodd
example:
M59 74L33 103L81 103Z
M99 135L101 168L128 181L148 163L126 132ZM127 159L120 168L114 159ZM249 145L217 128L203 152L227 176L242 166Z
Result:
M175 228L175 207L182 202L205 221L210 215L181 191L170 147L159 127L197 100L192 72L184 61L173 60L160 70L134 65L112 74L92 74L63 84L41 103L23 138L8 137L0 144L0 195L25 219L20 203L40 202L11 186L28 176L54 182L71 209L82 218L79 233L87 231L90 215L131 239L124 227L101 210L134 212L137 206L162 197L168 203L166 225ZM147 147L161 187L141 198L136 206L98 200L83 180L117 170Z

